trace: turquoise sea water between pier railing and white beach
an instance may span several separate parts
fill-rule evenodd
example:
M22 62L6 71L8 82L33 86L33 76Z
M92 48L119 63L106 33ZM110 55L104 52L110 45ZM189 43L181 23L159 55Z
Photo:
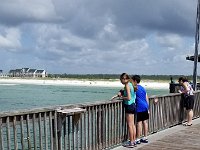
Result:
M0 84L0 112L109 100L117 87ZM163 95L168 89L147 89L148 95Z

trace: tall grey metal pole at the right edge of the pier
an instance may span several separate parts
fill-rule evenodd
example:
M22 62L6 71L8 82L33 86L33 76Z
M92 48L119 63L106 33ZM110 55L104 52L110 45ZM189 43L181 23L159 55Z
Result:
M199 21L200 21L200 0L197 2L196 34L195 34L195 53L194 53L194 70L193 70L193 88L197 89L197 63L199 47Z

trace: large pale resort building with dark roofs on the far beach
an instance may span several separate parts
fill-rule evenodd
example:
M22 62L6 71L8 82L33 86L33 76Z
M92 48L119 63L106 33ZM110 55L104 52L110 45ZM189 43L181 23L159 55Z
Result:
M31 77L31 78L44 78L47 77L47 72L43 69L22 68L10 70L9 77Z

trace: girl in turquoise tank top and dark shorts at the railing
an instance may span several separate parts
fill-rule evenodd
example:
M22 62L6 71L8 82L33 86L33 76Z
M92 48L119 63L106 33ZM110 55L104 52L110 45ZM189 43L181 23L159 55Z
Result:
M123 106L126 113L126 122L128 125L129 140L123 146L133 148L136 146L136 128L134 123L134 114L136 112L135 99L137 86L127 73L122 73L120 81L124 85L124 94L119 95L123 99Z

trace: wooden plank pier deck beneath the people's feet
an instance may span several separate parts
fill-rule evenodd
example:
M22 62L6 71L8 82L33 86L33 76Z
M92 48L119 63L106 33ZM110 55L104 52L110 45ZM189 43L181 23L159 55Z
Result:
M200 118L192 126L177 125L148 136L149 143L139 144L137 150L200 150ZM113 150L127 150L118 146Z

